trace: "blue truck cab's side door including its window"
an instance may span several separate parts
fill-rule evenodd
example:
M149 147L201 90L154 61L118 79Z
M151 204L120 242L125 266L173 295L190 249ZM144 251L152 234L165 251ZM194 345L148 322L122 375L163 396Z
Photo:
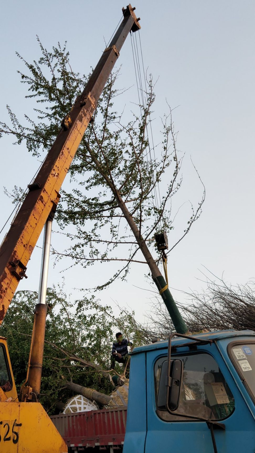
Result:
M213 453L206 422L189 415L214 419L226 429L214 429L218 453L255 451L255 422L235 386L216 346L191 351L177 348L173 358L183 361L180 406L175 415L157 407L157 390L167 350L147 352L147 437L145 453ZM181 417L179 414L186 414Z

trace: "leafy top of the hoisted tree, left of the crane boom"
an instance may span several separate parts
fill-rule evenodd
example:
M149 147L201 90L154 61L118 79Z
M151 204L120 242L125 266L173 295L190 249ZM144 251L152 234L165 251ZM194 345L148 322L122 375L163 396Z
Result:
M69 52L66 44L61 48L58 43L53 52L47 52L37 37L42 56L38 62L28 63L19 53L20 60L28 69L28 74L18 71L21 83L28 87L27 99L35 99L38 106L34 107L36 120L25 116L26 124L22 125L15 113L7 106L11 125L0 122L0 131L15 136L15 144L25 140L29 152L39 156L42 151L49 151L60 130L60 124L79 94L79 85L87 81L87 77L75 74L69 65ZM44 72L43 72L44 70Z

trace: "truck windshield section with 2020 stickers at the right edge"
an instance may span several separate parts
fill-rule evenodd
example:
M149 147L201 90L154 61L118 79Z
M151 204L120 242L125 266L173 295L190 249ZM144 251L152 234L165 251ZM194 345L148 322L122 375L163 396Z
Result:
M230 352L239 374L255 396L255 343L236 343Z

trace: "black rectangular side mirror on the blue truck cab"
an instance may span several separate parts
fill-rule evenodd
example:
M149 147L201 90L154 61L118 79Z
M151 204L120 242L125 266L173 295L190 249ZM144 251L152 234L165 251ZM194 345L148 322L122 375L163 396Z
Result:
M183 362L180 359L171 360L170 376L167 375L168 363L163 361L159 387L157 393L157 409L159 410L177 410L179 406L181 381L183 374ZM168 386L170 382L170 386Z

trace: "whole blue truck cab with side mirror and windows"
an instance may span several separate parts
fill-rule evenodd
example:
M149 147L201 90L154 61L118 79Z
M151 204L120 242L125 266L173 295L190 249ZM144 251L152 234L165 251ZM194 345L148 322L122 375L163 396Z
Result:
M123 453L255 453L255 332L170 341L171 363L182 362L178 404L169 411L160 402L169 342L135 348Z

